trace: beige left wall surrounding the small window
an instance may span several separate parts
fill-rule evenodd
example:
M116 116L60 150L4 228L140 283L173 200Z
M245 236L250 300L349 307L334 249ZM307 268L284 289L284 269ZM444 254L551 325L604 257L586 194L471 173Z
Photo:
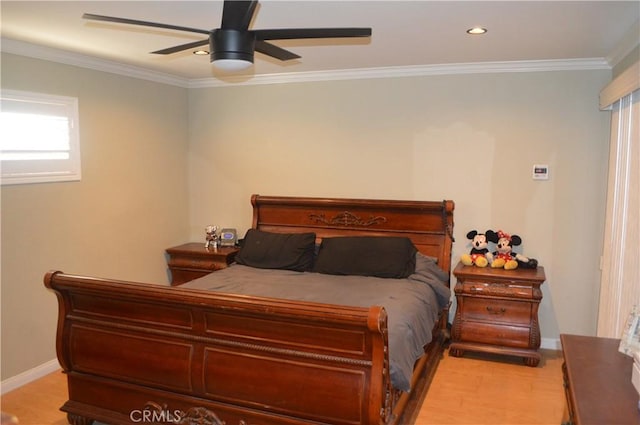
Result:
M188 237L187 91L2 55L2 87L79 99L82 181L3 186L2 379L56 357L59 269L167 284Z

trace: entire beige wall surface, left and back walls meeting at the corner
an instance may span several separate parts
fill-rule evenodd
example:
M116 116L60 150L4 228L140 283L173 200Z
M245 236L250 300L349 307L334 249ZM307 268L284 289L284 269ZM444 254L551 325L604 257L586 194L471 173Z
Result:
M83 158L81 182L2 188L2 379L55 357L46 270L166 283L163 250L243 233L252 193L453 199L454 257L468 230L519 234L543 338L595 333L609 71L187 90L2 59L3 87L79 97Z

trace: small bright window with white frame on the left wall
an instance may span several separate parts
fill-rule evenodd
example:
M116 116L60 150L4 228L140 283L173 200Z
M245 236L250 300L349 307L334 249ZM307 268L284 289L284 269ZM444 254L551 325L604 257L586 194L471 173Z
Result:
M2 184L80 180L78 99L2 90Z

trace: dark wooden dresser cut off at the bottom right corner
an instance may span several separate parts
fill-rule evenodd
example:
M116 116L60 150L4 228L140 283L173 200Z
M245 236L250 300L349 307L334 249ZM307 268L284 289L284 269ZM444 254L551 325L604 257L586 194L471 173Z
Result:
M640 424L633 359L619 339L560 335L569 425Z

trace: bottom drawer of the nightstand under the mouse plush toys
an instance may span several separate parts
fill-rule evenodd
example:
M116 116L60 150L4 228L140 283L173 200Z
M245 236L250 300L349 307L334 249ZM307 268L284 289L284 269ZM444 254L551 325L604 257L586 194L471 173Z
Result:
M465 322L460 326L463 341L481 344L499 344L505 347L528 348L529 327L496 325L481 322Z

